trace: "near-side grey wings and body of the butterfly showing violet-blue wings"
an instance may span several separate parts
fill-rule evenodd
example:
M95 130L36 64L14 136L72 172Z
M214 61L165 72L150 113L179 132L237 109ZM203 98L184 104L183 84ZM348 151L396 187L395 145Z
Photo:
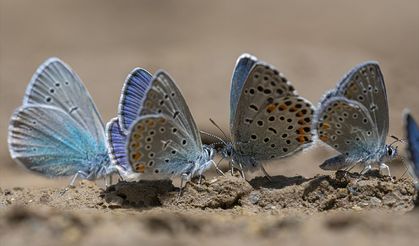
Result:
M141 100L129 129L126 154L141 179L201 176L214 150L203 145L186 102L171 77L158 71Z

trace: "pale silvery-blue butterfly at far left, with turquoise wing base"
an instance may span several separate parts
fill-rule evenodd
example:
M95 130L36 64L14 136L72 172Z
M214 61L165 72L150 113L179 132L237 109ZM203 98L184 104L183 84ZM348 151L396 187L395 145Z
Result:
M94 180L116 171L102 120L78 75L58 58L35 72L8 136L11 157L30 171Z

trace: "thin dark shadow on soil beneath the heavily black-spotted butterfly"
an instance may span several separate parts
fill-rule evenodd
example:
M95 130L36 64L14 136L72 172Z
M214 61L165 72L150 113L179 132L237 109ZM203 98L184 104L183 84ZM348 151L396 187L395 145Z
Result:
M256 177L249 181L250 185L254 189L259 188L270 188L270 189L282 189L287 186L300 185L312 178L304 178L303 176L286 177L283 175L271 176L270 180L266 177Z

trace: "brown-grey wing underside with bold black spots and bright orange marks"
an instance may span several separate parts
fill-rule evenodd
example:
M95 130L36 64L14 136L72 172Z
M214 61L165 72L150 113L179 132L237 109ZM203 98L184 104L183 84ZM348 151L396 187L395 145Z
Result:
M236 152L256 160L281 158L312 142L313 107L272 66L253 66L239 98L232 138Z

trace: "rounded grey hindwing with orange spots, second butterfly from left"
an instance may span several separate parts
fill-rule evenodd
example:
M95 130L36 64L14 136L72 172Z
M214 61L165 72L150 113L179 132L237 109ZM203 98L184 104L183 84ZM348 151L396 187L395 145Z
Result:
M202 148L189 132L166 115L140 116L130 128L128 161L143 179L162 179L188 173Z

